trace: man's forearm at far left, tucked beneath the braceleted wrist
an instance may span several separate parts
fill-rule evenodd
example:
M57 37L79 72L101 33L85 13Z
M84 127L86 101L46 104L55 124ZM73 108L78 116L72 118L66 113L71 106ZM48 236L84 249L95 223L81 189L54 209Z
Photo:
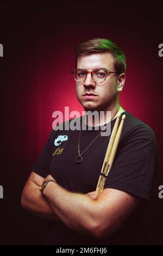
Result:
M51 205L40 193L39 186L34 182L30 185L30 189L27 190L27 188L24 187L21 204L24 209L33 212L33 214L39 217L52 221L59 221L59 218L52 210Z

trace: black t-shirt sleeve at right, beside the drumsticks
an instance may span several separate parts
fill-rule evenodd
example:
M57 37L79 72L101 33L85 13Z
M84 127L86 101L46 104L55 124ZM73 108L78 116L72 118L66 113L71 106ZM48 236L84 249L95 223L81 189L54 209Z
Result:
M149 200L157 169L158 150L155 143L137 133L117 150L104 188L115 188Z

